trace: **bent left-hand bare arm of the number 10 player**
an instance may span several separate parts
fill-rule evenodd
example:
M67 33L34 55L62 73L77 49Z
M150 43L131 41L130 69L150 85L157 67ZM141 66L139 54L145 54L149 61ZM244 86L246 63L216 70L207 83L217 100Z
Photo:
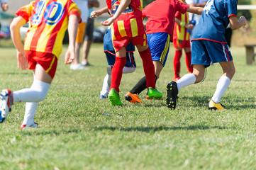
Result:
M24 18L22 18L21 16L18 16L17 18L13 19L10 26L11 38L17 50L18 68L21 67L21 69L23 70L28 68L28 60L26 59L24 47L21 42L20 28L26 23L27 22Z

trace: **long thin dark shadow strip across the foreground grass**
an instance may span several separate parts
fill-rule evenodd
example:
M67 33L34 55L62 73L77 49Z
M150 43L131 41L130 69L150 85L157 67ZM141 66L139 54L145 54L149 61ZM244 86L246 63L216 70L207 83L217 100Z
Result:
M205 126L205 125L191 125L191 126L173 126L173 127L166 127L166 126L158 126L158 127L130 127L130 128L119 128L113 126L101 126L101 127L93 127L94 130L102 131L102 130L111 130L111 131L140 131L140 132L158 132L158 131L169 131L169 130L209 130L209 129L230 129L223 126ZM231 128L234 129L234 128Z

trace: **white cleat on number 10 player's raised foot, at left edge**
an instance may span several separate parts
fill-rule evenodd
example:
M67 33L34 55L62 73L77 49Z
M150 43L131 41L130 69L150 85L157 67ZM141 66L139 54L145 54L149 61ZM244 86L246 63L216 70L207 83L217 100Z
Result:
M0 94L0 123L6 120L13 104L13 93L9 89L4 89Z

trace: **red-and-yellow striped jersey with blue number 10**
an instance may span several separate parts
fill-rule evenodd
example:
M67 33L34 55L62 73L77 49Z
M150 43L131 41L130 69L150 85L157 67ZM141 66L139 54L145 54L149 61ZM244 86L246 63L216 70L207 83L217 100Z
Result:
M48 52L59 58L68 16L80 18L81 12L72 0L35 0L20 8L16 15L30 22L24 50Z

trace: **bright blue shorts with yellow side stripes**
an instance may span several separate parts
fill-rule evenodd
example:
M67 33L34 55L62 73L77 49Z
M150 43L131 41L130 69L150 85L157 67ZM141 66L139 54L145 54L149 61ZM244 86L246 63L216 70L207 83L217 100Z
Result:
M165 66L169 52L170 35L168 33L151 33L147 34L147 38L152 60L160 61Z

